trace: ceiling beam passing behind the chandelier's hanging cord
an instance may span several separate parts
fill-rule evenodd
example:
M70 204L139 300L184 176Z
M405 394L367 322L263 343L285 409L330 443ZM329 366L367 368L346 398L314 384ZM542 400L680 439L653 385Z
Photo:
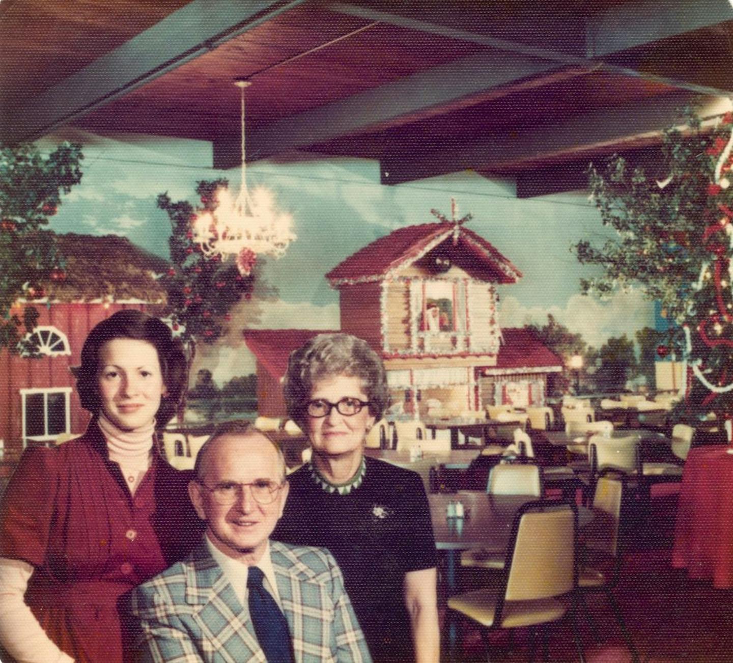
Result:
M489 51L474 54L248 131L247 153L256 159L267 158L346 134L414 122L444 112L446 106L468 103L467 99L485 95L487 89L515 84L557 67L556 62L524 56L497 56ZM215 168L231 168L239 159L238 137L214 142Z

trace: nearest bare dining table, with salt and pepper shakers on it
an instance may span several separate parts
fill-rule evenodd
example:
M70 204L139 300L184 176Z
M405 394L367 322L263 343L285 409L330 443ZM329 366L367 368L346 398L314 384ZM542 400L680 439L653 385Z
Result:
M435 548L445 557L448 596L457 591L460 552L478 548L491 554L507 554L517 512L526 502L538 499L534 495L494 495L485 491L430 493L427 498ZM448 516L449 505L456 502L463 505L463 518ZM591 509L578 507L578 527L585 527L592 519ZM449 614L449 651L454 651L456 635L456 623Z

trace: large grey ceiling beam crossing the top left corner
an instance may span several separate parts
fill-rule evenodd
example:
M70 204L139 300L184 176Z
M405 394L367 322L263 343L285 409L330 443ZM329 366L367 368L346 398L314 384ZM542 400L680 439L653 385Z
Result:
M4 106L0 142L43 136L303 1L193 0L40 95Z

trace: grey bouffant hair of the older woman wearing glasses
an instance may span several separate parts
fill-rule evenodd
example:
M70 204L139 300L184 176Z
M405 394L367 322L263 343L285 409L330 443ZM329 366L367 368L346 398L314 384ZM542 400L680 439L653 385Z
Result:
M306 403L313 386L323 378L360 378L369 400L369 411L377 420L387 408L387 376L380 356L366 341L351 334L318 334L290 353L284 379L288 416L301 428L306 422Z

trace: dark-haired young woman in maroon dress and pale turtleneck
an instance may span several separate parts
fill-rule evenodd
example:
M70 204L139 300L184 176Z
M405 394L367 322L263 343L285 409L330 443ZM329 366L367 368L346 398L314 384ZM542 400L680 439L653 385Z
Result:
M0 642L22 662L122 661L133 631L125 595L200 531L188 476L155 438L184 387L168 327L137 310L111 315L87 337L76 376L89 428L26 450L3 498Z

